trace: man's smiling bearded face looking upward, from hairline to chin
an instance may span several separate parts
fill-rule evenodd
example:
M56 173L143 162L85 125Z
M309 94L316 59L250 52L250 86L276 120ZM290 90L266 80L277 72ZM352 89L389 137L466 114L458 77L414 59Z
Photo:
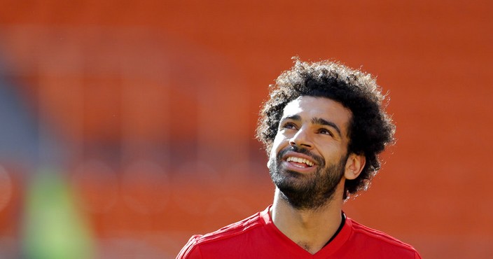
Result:
M317 209L344 188L351 117L342 104L324 97L298 97L284 108L268 166L293 207Z

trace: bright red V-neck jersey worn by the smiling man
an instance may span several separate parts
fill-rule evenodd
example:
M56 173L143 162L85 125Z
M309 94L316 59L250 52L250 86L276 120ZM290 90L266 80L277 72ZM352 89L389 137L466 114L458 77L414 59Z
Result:
M346 218L340 232L312 255L286 237L269 209L207 235L194 235L176 259L421 259L412 246Z

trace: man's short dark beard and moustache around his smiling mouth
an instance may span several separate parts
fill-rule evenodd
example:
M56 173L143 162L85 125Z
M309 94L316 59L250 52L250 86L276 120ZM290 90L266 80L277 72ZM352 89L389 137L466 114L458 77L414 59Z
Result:
M282 168L282 157L293 151L310 156L316 161L317 169L311 174L301 174ZM333 199L335 189L344 176L347 155L332 165L326 165L324 158L314 155L306 148L289 146L271 156L269 162L270 178L281 193L281 198L291 207L299 210L315 210Z

